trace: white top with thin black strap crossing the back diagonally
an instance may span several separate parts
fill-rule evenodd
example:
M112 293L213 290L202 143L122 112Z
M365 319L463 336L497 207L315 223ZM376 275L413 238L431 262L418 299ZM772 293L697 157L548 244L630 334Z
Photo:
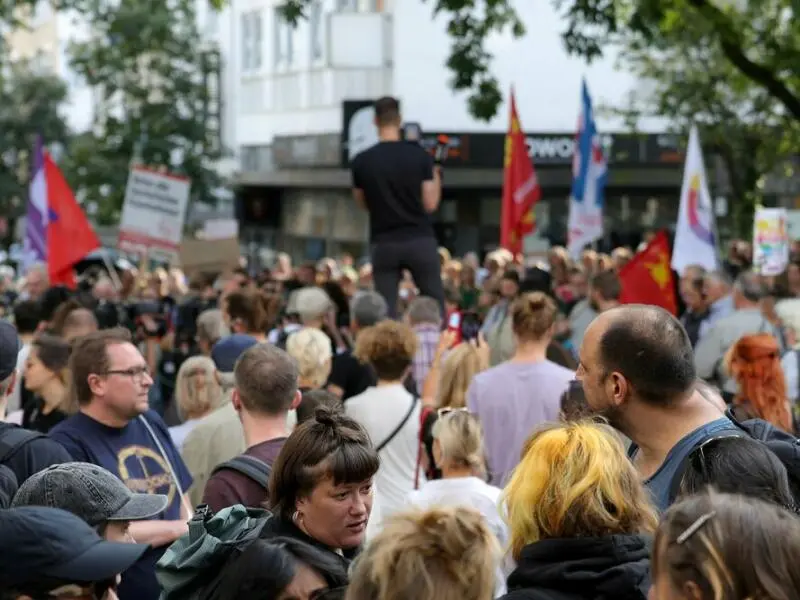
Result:
M409 415L414 397L401 385L367 388L344 403L345 413L358 421L369 433L377 448ZM376 495L373 501L374 526L406 506L406 496L414 489L414 473L419 453L421 404L416 401L410 416L397 435L380 451L381 466L375 478ZM375 514L379 516L376 518Z

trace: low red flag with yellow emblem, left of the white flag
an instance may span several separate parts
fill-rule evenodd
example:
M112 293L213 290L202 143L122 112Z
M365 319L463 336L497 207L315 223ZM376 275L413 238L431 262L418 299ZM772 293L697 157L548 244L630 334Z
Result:
M663 231L619 271L622 304L653 304L678 312L675 282L669 266L669 239Z

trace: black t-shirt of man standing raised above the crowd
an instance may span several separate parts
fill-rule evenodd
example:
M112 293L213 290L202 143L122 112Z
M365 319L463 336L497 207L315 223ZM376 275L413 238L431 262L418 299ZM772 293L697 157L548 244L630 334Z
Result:
M353 187L364 192L373 242L433 237L422 206L422 182L433 159L412 142L379 142L353 159Z

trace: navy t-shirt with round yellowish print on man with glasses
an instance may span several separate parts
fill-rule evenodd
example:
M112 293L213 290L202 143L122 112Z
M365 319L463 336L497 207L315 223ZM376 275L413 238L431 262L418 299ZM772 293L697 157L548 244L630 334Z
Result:
M158 436L184 492L192 484L192 476L170 439L167 427L154 411L144 418ZM170 475L169 466L159 452L141 419L134 419L122 429L108 427L78 413L50 431L73 460L99 465L117 475L130 490L137 493L165 494L170 503L157 519L173 521L181 517L181 498ZM155 565L166 550L152 548L122 575L120 600L158 600L160 588Z

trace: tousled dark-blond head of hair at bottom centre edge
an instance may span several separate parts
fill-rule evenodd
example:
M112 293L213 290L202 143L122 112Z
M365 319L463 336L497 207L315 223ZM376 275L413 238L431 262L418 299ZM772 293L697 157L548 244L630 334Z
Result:
M346 600L491 600L495 536L476 511L396 515L358 558Z

